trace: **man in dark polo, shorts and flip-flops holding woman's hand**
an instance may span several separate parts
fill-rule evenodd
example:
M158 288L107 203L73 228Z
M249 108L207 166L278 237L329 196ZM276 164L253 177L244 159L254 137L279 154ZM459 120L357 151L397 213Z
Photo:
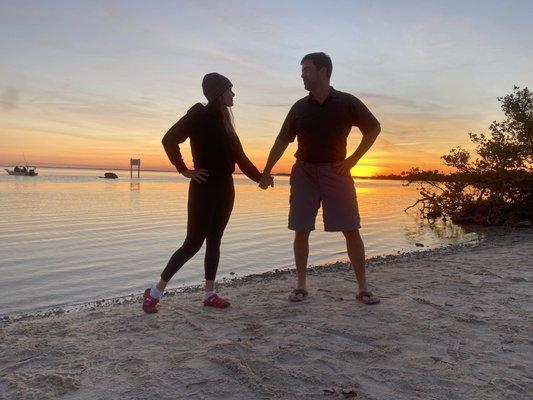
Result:
M309 235L315 229L316 214L322 204L325 230L342 232L346 238L348 257L357 278L356 298L365 304L377 304L379 299L367 288L365 250L359 235L360 218L350 170L370 149L381 127L359 99L330 86L333 66L327 54L307 54L301 66L309 95L290 109L259 183L262 189L271 184L272 168L289 143L298 138L296 163L290 178L289 211L298 285L289 300L302 301L308 295ZM357 126L363 137L355 152L346 158L346 140L352 126Z

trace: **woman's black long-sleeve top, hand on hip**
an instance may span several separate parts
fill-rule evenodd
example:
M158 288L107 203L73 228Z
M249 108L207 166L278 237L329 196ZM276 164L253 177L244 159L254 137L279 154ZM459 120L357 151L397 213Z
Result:
M224 127L220 112L197 103L165 134L163 147L178 172L187 170L179 148L187 138L195 169L206 169L210 177L231 175L237 163L250 179L255 182L261 179L261 173L246 157L237 135Z

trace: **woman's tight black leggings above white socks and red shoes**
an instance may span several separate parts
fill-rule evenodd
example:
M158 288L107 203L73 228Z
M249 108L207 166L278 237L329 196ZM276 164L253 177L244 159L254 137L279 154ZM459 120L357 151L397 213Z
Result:
M203 183L191 180L187 205L187 237L170 257L161 273L161 279L170 281L183 264L198 253L205 240L205 279L215 280L220 259L220 241L233 210L234 199L235 189L231 175L210 176Z

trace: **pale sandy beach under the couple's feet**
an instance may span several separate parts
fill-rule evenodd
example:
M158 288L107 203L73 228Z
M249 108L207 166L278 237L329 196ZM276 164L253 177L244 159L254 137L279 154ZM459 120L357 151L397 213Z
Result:
M533 232L369 262L382 303L354 299L349 265L0 325L1 399L528 399ZM31 293L27 294L31 296Z

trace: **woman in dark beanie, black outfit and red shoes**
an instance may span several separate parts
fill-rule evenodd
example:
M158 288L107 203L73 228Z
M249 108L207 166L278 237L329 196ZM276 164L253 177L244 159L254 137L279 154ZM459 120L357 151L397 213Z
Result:
M170 257L161 279L144 292L143 310L157 312L157 304L172 276L202 247L205 240L204 306L225 308L229 301L214 291L220 258L220 241L233 209L235 163L250 179L259 182L261 173L244 154L235 133L231 113L232 83L217 73L207 74L202 89L208 104L197 103L163 137L168 158L178 172L189 178L187 237ZM194 169L187 168L179 143L189 138Z

